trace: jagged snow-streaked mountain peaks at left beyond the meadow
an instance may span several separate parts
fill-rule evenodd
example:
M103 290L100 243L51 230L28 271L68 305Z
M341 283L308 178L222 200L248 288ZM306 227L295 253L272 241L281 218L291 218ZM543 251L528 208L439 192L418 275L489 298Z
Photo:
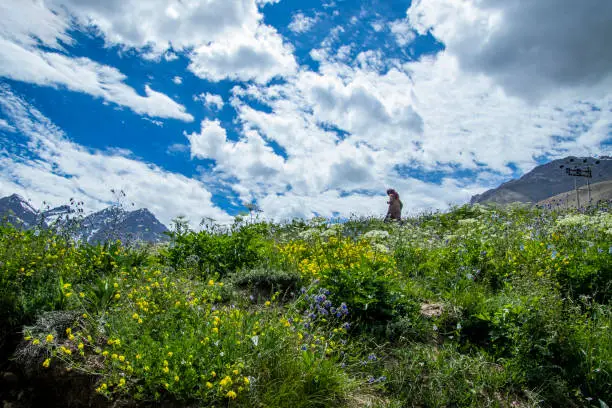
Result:
M109 239L152 243L169 239L164 234L168 228L146 208L126 211L108 207L84 217L78 215L68 205L39 211L17 194L0 198L0 222L6 220L24 229L53 226L59 231L67 231L76 240L90 244Z

